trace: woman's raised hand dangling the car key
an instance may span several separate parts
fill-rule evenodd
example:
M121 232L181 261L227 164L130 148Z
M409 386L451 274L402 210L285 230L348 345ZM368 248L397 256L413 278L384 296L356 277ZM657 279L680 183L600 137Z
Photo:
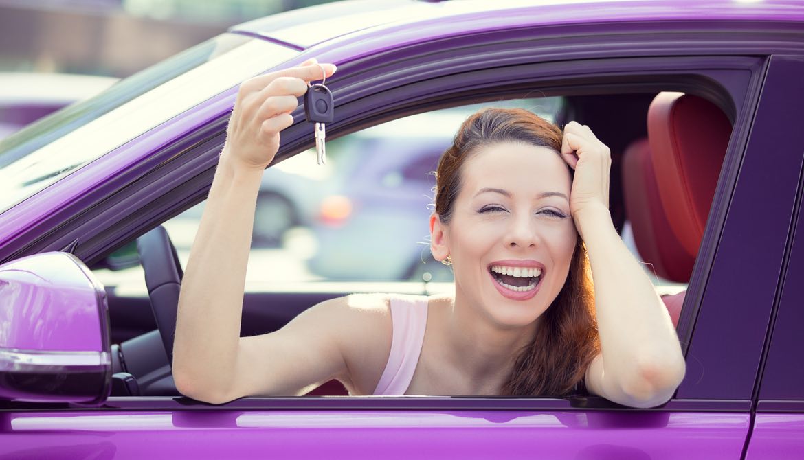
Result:
M334 64L309 59L299 67L258 75L240 84L226 130L222 158L248 169L265 169L279 149L279 132L293 124L290 115L307 83L335 73Z

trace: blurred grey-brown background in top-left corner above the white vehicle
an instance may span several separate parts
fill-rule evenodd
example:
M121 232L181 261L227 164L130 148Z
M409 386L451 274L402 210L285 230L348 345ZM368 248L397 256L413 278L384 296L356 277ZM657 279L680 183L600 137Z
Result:
M255 18L332 0L0 0L0 71L123 78Z

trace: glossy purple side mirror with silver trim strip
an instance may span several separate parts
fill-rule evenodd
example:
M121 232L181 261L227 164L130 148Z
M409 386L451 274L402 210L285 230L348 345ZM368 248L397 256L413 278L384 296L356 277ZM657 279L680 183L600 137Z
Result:
M100 405L111 389L106 294L76 256L0 266L0 398Z

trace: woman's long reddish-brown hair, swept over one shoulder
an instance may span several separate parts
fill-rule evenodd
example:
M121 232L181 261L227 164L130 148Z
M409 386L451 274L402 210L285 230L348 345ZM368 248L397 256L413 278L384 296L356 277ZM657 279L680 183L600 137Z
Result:
M461 165L479 147L517 142L561 150L563 133L555 124L521 108L486 108L458 129L436 171L436 214L449 223L461 189ZM569 166L568 166L569 168ZM572 169L570 169L572 174ZM519 350L501 393L563 397L582 388L586 368L600 352L592 277L584 243L578 238L564 286L541 316L539 329Z

